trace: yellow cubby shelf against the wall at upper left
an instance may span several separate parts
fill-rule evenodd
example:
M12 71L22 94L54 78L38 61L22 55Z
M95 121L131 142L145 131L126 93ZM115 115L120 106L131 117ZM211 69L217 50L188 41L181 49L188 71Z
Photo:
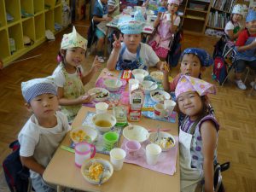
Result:
M55 23L62 25L61 0L0 0L0 59L4 67L42 44L45 30L56 33ZM32 44L24 45L24 37Z

